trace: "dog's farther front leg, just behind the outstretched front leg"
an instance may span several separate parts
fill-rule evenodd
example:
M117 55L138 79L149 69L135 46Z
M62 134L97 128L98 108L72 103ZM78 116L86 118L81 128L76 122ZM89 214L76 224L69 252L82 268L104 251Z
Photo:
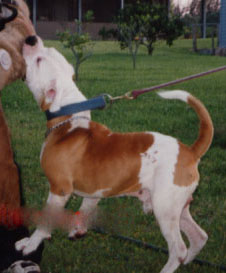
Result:
M80 238L87 233L99 201L99 198L83 198L82 205L76 212L75 228L70 231L69 239Z

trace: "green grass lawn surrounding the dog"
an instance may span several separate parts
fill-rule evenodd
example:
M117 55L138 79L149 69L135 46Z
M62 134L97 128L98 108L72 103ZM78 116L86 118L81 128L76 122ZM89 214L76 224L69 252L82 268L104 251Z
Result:
M206 41L209 45L209 41ZM56 41L46 41L73 62L72 53ZM159 43L153 56L141 48L137 69L127 51L116 42L96 42L94 55L82 64L81 91L91 98L101 93L121 95L127 91L153 86L225 65L222 57L197 55L192 41L178 40L171 48ZM226 264L226 71L178 84L170 89L187 90L206 105L213 119L215 136L200 163L200 185L194 194L191 212L209 235L198 258ZM2 103L12 135L15 158L21 167L23 192L27 206L42 208L48 195L48 183L40 168L39 154L45 133L45 117L25 85L18 81L5 88ZM186 104L148 93L134 101L120 101L103 111L93 111L93 120L112 130L158 131L186 144L197 137L198 119ZM68 208L77 210L81 198L72 198ZM99 204L100 226L110 235L90 231L76 242L55 231L45 243L43 272L52 273L157 273L167 256L135 244L115 239L111 234L130 236L160 247L166 243L153 216L146 216L133 198L105 199ZM215 273L211 267L194 263L177 272Z

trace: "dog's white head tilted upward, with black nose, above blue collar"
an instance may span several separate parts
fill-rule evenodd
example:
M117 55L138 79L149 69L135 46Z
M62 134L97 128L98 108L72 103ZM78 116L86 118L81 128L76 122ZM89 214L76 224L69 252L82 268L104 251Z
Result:
M37 36L30 36L23 46L26 84L43 110L57 111L69 90L78 92L73 82L74 69L54 48L46 48ZM83 97L84 98L84 97Z

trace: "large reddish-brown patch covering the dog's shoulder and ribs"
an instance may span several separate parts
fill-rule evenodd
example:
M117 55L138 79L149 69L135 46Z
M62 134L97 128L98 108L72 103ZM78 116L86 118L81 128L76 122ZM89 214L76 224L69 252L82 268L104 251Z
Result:
M52 193L92 195L103 190L108 197L140 189L140 154L153 144L151 134L112 133L95 122L89 129L68 129L66 124L52 132L43 152L41 164Z

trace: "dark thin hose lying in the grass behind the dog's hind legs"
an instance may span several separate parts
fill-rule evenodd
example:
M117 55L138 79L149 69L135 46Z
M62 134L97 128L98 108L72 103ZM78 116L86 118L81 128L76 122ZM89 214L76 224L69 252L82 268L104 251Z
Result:
M100 234L109 235L109 233L104 231L103 229L98 228L98 229L93 229L93 231L97 232L97 233L100 233ZM161 252L161 253L164 253L164 254L169 253L168 250L165 249L165 248L154 246L152 244L148 244L148 243L142 242L142 241L137 240L137 239L133 239L133 238L123 236L123 235L120 235L120 234L110 234L110 235L115 239L128 241L130 243L135 243L139 247L143 247L143 248L146 248L146 249L152 249L154 251L158 251L158 252ZM198 264L200 266L214 267L217 270L226 272L226 266L225 265L218 265L218 264L210 263L209 261L200 260L200 259L194 259L192 262L195 263L195 264Z

